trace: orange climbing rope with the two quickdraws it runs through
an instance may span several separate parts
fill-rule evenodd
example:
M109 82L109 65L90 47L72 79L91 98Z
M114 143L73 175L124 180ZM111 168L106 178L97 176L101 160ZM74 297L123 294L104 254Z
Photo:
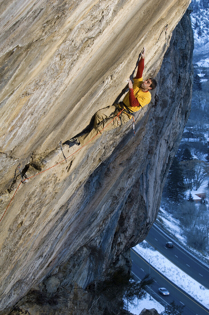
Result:
M121 109L121 111L120 111L100 132L98 132L98 134L100 134L110 123L112 123L113 120L117 119L117 118L119 117L119 115L120 115L123 111L124 111L124 108ZM70 154L69 157L71 157L72 155L74 155L76 152L80 151L80 150L81 150L84 146L86 146L91 140L93 140L98 134L96 134L93 138L91 138L88 142L86 142L83 146L81 146L81 147L80 147L78 150L76 150L74 153ZM61 141L60 141L59 144L60 144L60 148L61 148L61 150L62 150L62 143L61 143ZM64 155L64 153L63 153L63 155ZM27 177L27 178L25 178L25 179L22 178L22 174L21 174L21 172L20 172L21 181L19 182L19 185L17 186L17 189L15 190L12 199L14 198L16 192L18 191L18 188L19 188L20 184L21 184L21 183L25 184L24 182L25 182L26 179L29 180L30 178L33 178L33 177L35 177L35 176L37 176L37 175L40 175L41 173L46 172L46 171L49 170L49 169L52 169L53 167L57 166L58 164L62 163L63 161L66 161L69 157L65 157L65 156L64 156L64 160L62 160L62 161L60 161L60 162L58 162L58 163L52 165L52 166L49 167L48 169L44 169L43 171L41 171L41 172L39 172L39 173L37 173L37 174L35 174L35 175L33 175L33 176ZM20 164L18 165L18 168L19 168L19 171L20 171ZM12 199L10 200L10 202L9 202L9 204L8 204L8 206L7 206L7 209L8 209L8 207L9 207L10 203L12 202ZM4 211L3 216L5 215L7 209ZM1 217L0 222L1 222L2 219L3 219L3 216Z

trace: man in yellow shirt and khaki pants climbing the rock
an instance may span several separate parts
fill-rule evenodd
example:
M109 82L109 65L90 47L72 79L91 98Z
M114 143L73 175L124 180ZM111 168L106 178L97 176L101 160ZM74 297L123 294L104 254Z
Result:
M63 145L66 144L69 147L74 144L84 146L92 138L97 139L104 131L112 130L127 123L134 116L134 113L140 110L140 107L149 104L151 101L151 93L149 91L155 89L157 82L151 77L143 81L144 58L145 47L141 53L134 83L132 84L131 80L128 80L129 92L125 95L123 101L98 110L95 114L93 129L84 135L65 141ZM117 118L114 119L114 117Z

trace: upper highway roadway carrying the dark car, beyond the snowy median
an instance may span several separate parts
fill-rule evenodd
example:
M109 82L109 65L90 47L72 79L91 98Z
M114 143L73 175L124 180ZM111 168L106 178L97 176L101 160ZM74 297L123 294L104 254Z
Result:
M207 289L209 288L209 268L189 252L185 251L184 248L180 247L173 239L167 237L156 225L151 227L146 241L190 277L204 285ZM168 241L173 243L173 248L165 246L165 243Z

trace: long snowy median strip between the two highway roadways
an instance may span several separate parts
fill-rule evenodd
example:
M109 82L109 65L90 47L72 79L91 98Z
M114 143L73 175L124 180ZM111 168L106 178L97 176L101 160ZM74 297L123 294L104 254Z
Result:
M156 249L150 249L147 246L150 247L146 241L143 241L142 243L133 247L133 249L144 259L146 259L146 261L149 261L150 258L150 264L152 266L159 270L179 288L191 295L196 301L208 308L209 290L175 266Z

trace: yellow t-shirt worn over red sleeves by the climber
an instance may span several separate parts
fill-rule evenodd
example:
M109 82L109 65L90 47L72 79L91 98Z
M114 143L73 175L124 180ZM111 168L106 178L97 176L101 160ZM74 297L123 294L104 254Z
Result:
M140 110L140 107L144 107L145 105L149 104L151 101L151 93L149 91L143 92L141 89L141 83L143 82L143 77L140 79L134 79L133 90L134 96L139 101L141 106L130 106L129 103L129 92L125 95L123 102L129 108L131 112L137 112Z

